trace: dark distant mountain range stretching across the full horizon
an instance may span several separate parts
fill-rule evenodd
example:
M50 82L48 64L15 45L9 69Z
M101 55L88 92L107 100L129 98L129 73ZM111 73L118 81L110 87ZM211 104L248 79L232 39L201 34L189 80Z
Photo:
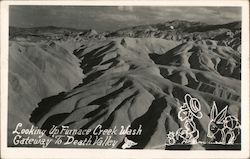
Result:
M97 33L94 29L73 29L54 26L36 28L17 28L10 27L10 39L25 37L31 41L36 40L66 40L70 37L78 39L104 39L114 37L133 37L133 38L162 38L177 41L194 41L210 39L220 42L220 45L231 46L233 49L240 49L241 22L236 21L227 24L208 25L201 22L188 22L174 20L165 23L152 25L141 25L120 29L117 31L107 31Z

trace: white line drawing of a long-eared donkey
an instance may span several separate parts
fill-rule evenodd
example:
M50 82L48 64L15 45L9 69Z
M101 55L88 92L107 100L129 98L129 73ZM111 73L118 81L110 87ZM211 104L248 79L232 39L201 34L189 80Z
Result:
M220 144L234 144L240 134L240 122L232 115L227 115L228 106L218 113L216 103L210 112L210 122L208 124L207 136L212 142Z

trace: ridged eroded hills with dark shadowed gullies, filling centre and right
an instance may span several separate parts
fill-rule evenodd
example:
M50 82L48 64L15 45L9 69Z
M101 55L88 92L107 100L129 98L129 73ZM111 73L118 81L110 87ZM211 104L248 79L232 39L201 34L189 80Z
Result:
M133 148L152 148L180 127L178 103L186 93L201 102L203 118L195 121L199 140L207 140L213 101L229 105L229 113L240 118L240 53L230 47L212 41L116 38L86 43L74 55L86 78L38 104L30 121L40 128L142 125L141 135L129 136L138 142ZM124 137L114 136L118 148Z

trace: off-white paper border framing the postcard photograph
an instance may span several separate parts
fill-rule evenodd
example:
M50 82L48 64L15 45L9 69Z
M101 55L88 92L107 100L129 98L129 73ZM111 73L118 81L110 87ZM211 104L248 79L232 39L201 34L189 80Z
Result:
M242 146L241 151L104 150L7 148L8 6L240 6L242 7ZM249 2L229 1L2 1L1 2L1 158L249 158Z

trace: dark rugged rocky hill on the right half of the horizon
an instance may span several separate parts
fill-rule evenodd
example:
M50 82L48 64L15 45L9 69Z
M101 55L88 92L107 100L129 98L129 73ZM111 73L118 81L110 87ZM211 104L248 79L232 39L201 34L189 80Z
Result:
M165 23L120 29L106 36L133 38L155 37L182 42L210 39L220 41L220 45L230 46L237 50L241 45L240 38L236 40L236 38L240 36L240 33L241 22L208 25L201 22L174 20Z

